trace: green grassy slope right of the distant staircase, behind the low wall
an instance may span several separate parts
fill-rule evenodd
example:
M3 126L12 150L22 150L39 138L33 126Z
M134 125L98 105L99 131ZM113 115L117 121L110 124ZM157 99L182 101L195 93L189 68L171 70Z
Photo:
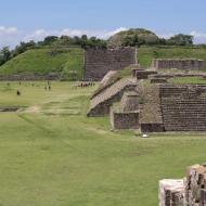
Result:
M197 47L142 47L138 53L142 66L150 67L153 59L194 57L206 60L206 49Z

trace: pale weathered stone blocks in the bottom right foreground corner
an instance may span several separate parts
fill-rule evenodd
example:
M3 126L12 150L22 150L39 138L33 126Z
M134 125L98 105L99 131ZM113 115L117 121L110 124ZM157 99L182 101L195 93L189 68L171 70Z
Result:
M159 206L205 205L206 165L189 167L184 179L159 181Z

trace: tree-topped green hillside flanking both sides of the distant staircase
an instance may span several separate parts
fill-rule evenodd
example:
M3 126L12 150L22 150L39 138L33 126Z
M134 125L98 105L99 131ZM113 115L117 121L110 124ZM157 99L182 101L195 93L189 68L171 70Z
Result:
M152 59L195 57L206 60L206 46L194 46L193 37L176 35L159 38L151 30L132 28L112 36L46 37L42 41L21 42L13 50L0 50L0 76L57 74L62 80L80 80L83 73L83 49L138 47L139 63L150 67Z

